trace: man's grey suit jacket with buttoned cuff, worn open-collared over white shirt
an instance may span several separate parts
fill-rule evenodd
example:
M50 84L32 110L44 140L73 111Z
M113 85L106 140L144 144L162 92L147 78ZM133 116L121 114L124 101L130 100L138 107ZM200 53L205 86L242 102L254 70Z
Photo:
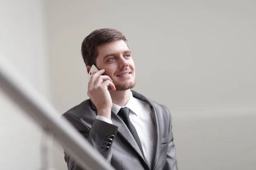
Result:
M64 116L106 158L116 170L177 170L171 115L168 108L132 91L137 99L148 102L154 113L156 142L150 166L125 123L112 112L112 124L95 119L97 110L90 99L71 108ZM82 170L64 151L68 170ZM151 167L151 169L149 168Z

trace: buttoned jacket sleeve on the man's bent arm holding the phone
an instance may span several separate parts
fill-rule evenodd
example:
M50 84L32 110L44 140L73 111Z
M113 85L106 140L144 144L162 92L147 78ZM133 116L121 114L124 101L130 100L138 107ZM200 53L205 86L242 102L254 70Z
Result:
M69 113L64 113L64 116L84 138L97 150L106 161L110 164L112 151L111 146L114 142L118 127L108 122L95 119L91 128L87 127L83 122ZM64 159L67 162L68 170L83 170L76 161L64 149Z

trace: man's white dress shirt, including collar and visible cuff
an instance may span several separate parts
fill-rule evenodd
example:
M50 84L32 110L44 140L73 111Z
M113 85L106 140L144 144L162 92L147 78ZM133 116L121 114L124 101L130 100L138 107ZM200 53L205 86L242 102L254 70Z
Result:
M127 104L123 107L131 110L129 118L140 138L145 161L151 166L155 144L155 125L152 109L147 102L133 97L132 93ZM121 108L121 106L113 103L112 111L117 114ZM112 121L104 116L98 115L96 119L112 124Z

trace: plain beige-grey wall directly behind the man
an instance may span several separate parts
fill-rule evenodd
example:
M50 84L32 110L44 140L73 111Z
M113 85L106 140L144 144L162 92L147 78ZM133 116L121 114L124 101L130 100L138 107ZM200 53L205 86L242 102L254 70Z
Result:
M88 98L81 42L94 29L117 28L133 51L134 90L172 111L180 170L255 170L255 6L47 0L52 102L64 113ZM63 161L62 150L55 158Z

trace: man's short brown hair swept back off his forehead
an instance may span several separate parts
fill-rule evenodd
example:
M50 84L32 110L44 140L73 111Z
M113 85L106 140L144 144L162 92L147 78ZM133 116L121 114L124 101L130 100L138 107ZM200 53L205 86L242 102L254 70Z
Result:
M97 48L106 43L114 42L117 40L124 40L127 43L125 35L120 31L113 28L102 28L92 31L81 45L81 54L86 66L96 64L96 58L98 56Z

